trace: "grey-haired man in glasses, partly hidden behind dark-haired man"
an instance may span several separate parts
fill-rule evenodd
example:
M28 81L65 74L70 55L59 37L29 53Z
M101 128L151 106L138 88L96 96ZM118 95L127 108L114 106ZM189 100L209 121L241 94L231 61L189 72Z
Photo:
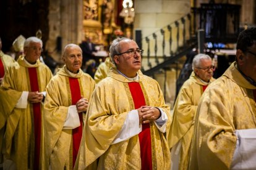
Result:
M211 64L209 55L195 55L192 62L193 72L182 85L177 96L173 110L173 123L168 133L171 169L187 169L198 103L208 84L213 81Z

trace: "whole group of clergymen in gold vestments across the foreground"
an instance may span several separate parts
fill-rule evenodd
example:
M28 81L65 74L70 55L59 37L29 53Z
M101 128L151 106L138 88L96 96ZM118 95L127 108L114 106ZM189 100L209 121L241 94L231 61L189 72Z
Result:
M211 57L195 55L173 114L132 39L113 40L95 79L82 70L84 44L64 47L54 76L41 39L25 39L17 61L1 45L3 169L256 169L254 27L218 79Z

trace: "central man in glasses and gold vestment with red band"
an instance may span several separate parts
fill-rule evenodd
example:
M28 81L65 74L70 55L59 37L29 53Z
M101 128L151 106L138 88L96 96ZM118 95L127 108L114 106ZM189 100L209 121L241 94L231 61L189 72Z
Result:
M170 110L159 84L140 71L143 50L117 38L109 51L116 67L95 87L75 169L170 169Z

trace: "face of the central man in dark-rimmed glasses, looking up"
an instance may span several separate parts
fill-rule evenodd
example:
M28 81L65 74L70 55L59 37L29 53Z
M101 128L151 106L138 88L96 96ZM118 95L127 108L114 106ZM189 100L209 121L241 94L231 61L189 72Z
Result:
M141 68L142 57L140 52L136 50L139 46L135 41L121 41L119 44L121 55L116 55L114 61L117 64L117 68L126 76L135 76L138 70Z

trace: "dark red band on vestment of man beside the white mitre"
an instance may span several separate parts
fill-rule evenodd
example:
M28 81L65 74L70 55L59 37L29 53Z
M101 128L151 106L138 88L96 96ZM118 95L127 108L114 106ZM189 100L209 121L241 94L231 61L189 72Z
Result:
M30 79L30 88L32 92L40 92L38 86L37 70L35 67L28 68L28 75ZM34 137L35 137L35 160L34 169L39 168L40 160L40 142L41 142L41 103L32 103L34 116Z

